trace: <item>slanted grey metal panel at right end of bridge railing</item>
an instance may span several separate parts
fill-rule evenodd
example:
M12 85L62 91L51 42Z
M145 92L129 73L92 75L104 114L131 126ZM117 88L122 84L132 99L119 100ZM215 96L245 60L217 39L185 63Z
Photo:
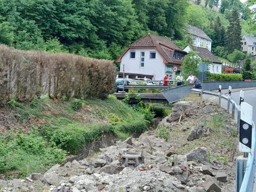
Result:
M190 95L193 84L181 85L161 91L165 99L172 103L186 98Z

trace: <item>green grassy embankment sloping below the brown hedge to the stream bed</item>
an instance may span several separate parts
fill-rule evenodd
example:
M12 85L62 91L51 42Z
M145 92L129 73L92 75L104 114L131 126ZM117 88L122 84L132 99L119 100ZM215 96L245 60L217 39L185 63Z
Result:
M0 117L6 121L0 124L0 172L12 177L44 172L103 132L124 139L145 131L151 120L145 114L113 97L11 100L9 106L0 108Z

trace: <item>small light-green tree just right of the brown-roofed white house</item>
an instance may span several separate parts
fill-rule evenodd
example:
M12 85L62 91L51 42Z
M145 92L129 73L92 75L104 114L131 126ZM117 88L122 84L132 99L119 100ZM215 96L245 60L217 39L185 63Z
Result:
M187 78L190 73L193 75L199 74L199 64L201 63L201 58L198 57L198 54L194 51L189 52L183 60L181 69L183 76Z

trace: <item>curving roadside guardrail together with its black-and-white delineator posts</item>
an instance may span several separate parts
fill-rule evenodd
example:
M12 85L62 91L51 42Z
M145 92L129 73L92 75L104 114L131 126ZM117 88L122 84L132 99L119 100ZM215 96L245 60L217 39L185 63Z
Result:
M239 131L239 151L243 153L242 156L236 159L236 192L256 192L255 183L255 157L256 157L256 130L252 121L253 107L244 102L244 91L240 91L239 104L231 98L231 86L229 86L228 94L221 93L221 85L219 86L219 93L214 91L202 91L199 89L192 89L193 92L202 94L212 94L219 97L219 105L221 98L228 101L227 111L229 111L230 104L232 119L235 119L235 110L237 110L237 131Z

